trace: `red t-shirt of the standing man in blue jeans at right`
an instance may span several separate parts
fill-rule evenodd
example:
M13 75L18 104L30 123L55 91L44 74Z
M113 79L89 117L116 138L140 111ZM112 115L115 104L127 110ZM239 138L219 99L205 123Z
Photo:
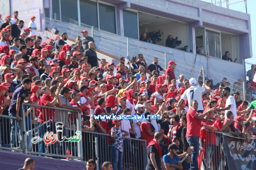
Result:
M197 111L190 108L187 112L187 133L186 137L201 137L201 119L196 119L195 116L198 115Z

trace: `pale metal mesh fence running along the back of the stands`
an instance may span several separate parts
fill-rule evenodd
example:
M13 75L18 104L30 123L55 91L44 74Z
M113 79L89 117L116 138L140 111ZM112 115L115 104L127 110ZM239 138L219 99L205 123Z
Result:
M68 23L68 27L65 29L68 29L67 32L69 33L69 37L72 39L75 39L78 35L81 36L80 31L86 29L88 31L88 35L94 38L97 48L105 51L106 53L109 53L110 55L114 55L116 57L125 56L127 59L130 59L130 57L133 55L137 56L138 54L143 54L144 59L146 60L148 65L149 63L152 63L152 59L154 57L158 57L158 64L164 69L167 68L168 62L170 60L173 60L177 63L174 72L176 78L178 78L180 74L184 74L185 78L196 78L196 80L198 80L198 84L200 85L202 85L205 80L205 73L208 73L208 79L214 80L214 84L221 82L222 79L226 77L228 82L227 86L230 87L230 89L232 90L234 89L233 91L239 92L241 99L245 100L244 83L240 83L233 78L229 78L228 76L224 76L212 70L205 70L201 66L197 66L195 64L174 58L174 55L171 53L154 51L146 47L142 47L141 41L138 41L136 39L123 37L98 28L94 28L90 25L78 23L78 21L72 20L70 18L64 16L60 17L58 14L55 14L54 16L55 21L53 20L53 22L55 24L57 22L56 20L60 20L60 18L61 22ZM161 74L164 74L164 72L161 72Z

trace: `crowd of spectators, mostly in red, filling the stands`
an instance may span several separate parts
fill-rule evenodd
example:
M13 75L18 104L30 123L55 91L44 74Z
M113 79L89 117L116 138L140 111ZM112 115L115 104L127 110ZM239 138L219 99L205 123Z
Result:
M17 120L11 119L11 129L1 128L2 146L21 147L16 131L20 133L18 122L23 102L78 111L82 131L110 134L114 170L123 168L122 137L146 140L146 170L198 169L199 140L206 143L205 150L210 156L206 156L205 162L211 168L214 150L220 146L215 131L229 132L246 140L254 137L256 102L249 105L248 101L240 100L239 92L230 89L225 79L214 88L208 81L198 86L195 78L181 74L176 79L174 61L169 61L164 70L158 65L158 58L148 65L143 54L133 56L130 65L120 57L115 69L114 63L106 63L106 59L98 62L96 45L88 31L81 31L82 36L76 37L73 46L65 42L68 33L42 42L42 37L32 31L36 30L35 17L31 17L29 28L22 29L24 22L18 20L17 14L13 16L15 22L6 16L0 28L0 114ZM247 74L252 79L255 66ZM41 125L41 135L56 131L54 123L58 121L76 126L74 115L60 116L54 109L38 108L36 114L29 110L25 114L29 117L26 121ZM94 117L112 114L145 117L134 120ZM151 119L153 115L160 115L160 119ZM45 124L50 119L53 121ZM3 126L2 120L1 126L8 127ZM202 125L208 130L208 137L202 137ZM32 145L28 147L31 149ZM50 152L43 142L39 149ZM225 159L225 155L220 158Z

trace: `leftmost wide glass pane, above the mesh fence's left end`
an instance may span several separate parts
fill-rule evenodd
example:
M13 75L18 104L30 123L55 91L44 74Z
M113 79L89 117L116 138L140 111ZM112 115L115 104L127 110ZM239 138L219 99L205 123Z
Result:
M69 22L69 18L78 21L77 0L61 0L61 20Z

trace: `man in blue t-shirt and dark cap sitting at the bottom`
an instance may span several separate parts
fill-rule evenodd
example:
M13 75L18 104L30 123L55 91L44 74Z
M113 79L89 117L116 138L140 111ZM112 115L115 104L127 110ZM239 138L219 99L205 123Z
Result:
M175 144L168 146L169 153L163 156L164 166L167 170L178 169L182 170L182 164L178 156L179 148Z

